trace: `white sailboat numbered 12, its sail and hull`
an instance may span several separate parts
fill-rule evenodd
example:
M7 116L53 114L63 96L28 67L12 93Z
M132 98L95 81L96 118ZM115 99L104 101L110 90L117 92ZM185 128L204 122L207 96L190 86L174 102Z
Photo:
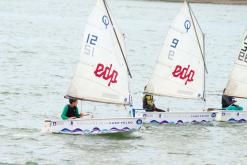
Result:
M105 0L98 0L85 27L81 57L66 98L130 105L131 73L124 44ZM108 134L137 131L142 123L141 117L80 118L47 120L45 126L53 133Z

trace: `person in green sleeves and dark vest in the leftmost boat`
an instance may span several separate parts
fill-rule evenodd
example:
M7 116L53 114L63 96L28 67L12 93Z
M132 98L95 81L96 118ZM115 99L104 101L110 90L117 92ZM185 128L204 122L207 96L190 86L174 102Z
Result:
M76 99L69 99L69 104L67 104L64 107L61 118L63 120L67 120L67 119L76 119L84 116L85 115L84 113L79 114L77 104L78 101Z

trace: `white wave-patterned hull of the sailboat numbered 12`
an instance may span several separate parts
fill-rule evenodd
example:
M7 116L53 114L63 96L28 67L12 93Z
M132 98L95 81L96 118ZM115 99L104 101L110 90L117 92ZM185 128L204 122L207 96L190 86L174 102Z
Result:
M141 128L142 118L92 118L45 121L45 130L62 134L109 134L134 132Z

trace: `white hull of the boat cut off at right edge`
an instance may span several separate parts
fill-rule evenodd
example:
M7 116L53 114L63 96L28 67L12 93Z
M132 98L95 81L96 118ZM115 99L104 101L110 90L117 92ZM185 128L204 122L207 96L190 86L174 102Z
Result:
M215 121L220 122L247 122L247 111L217 110Z

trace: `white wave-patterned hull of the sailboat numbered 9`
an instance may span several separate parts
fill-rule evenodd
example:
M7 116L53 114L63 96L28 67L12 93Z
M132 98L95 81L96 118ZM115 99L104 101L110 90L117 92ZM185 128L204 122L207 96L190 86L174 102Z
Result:
M144 112L136 111L148 124L206 123L215 120L216 112Z

